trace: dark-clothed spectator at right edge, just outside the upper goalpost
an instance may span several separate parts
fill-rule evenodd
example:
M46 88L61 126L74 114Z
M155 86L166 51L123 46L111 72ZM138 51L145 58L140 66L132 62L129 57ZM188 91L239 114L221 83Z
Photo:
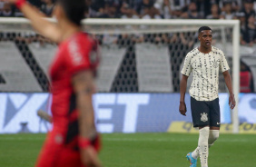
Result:
M250 15L247 21L247 26L242 34L241 44L249 44L252 46L256 42L256 26L255 15Z

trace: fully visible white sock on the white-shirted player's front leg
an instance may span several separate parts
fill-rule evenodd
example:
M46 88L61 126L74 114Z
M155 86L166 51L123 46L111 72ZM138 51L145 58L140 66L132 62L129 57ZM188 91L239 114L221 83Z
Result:
M199 155L202 167L208 167L208 139L209 139L210 128L203 127L199 130Z

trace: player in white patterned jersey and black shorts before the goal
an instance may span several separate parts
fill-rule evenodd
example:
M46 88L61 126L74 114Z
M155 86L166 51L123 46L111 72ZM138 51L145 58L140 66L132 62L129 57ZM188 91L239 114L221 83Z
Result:
M192 123L194 127L199 127L199 140L198 147L186 157L191 162L191 167L196 167L198 156L201 166L208 167L208 149L218 139L221 124L218 96L219 70L222 71L230 92L231 109L236 103L232 92L231 75L228 71L230 67L223 52L212 46L212 29L208 26L199 28L198 39L200 46L186 55L182 68L180 113L186 115L187 112L184 98L187 79L192 73L190 88Z

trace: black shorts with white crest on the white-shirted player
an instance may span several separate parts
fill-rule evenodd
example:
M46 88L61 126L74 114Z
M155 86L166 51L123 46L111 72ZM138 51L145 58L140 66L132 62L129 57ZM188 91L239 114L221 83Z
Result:
M215 126L220 127L219 98L213 101L197 101L191 97L193 127Z

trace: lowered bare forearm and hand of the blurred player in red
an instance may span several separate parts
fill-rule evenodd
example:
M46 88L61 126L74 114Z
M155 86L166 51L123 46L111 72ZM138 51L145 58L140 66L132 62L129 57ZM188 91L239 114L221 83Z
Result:
M79 113L79 135L80 138L92 140L96 135L94 125L94 76L91 71L80 72L73 77L74 93L76 94L76 105ZM81 159L84 165L92 167L102 166L97 153L92 145L81 148Z

